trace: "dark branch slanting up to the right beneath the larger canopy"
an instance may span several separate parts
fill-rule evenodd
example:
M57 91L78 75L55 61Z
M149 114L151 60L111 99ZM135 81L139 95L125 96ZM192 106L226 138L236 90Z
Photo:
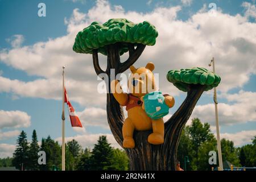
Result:
M133 65L135 63L135 61L137 61L139 59L139 56L141 56L145 47L146 47L146 45L144 45L144 44L138 44L136 49L132 48L131 46L128 46L129 58L125 62L121 63L120 68L119 68L119 73L123 73L128 68L130 68L130 66Z

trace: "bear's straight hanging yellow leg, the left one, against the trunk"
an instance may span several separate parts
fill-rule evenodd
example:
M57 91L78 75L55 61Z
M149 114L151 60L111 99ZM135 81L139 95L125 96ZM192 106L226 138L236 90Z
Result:
M135 142L133 139L133 131L134 131L134 125L133 122L131 122L131 119L126 118L125 122L123 122L123 147L125 148L134 148Z

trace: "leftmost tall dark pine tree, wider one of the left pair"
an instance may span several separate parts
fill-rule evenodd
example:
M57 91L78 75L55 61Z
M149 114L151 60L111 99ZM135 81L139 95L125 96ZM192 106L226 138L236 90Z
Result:
M27 134L22 130L18 139L15 152L13 154L13 165L16 169L24 171L28 167L28 142Z

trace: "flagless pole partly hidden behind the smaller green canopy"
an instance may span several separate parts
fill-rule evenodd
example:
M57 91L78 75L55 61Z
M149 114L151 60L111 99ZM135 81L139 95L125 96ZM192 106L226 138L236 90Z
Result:
M212 65L213 73L215 73L215 65L214 65L214 57L210 60L209 67ZM223 164L222 164L222 154L221 154L221 142L220 142L220 129L218 127L218 107L217 107L217 94L216 94L216 87L214 87L214 105L215 105L215 119L216 119L216 133L217 133L217 148L218 148L218 164L220 166L220 171L223 171Z

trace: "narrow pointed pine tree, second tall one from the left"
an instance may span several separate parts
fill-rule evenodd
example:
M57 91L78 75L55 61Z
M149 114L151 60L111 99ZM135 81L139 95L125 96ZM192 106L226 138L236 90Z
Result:
M30 169L32 171L39 170L38 152L39 152L38 137L36 135L36 131L33 130L32 142L31 142L30 148L28 150L28 157L29 157L28 169Z

